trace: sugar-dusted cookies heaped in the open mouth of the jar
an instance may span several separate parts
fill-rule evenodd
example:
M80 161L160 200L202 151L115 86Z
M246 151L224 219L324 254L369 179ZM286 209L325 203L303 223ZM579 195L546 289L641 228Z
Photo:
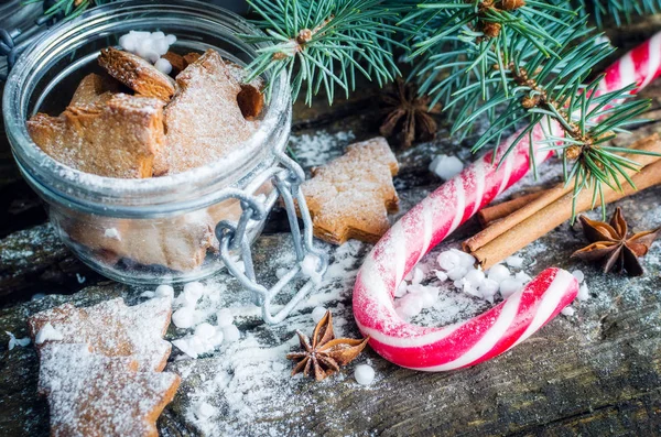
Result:
M175 78L102 50L104 70L80 81L64 112L28 121L33 141L72 168L117 178L182 173L240 149L259 122L260 84L243 84L242 68L214 50L164 57Z

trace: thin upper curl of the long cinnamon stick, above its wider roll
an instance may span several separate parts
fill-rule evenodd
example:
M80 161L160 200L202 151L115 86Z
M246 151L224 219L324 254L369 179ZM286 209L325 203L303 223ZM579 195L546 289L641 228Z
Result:
M630 149L636 149L636 150L644 151L644 152L661 153L661 138L659 136L658 133L651 134L649 136L646 136L641 140L636 141L633 144L631 144ZM633 155L631 153L625 154L625 157L627 157L629 160L635 160L641 166L651 164L659 160L659 156ZM627 170L627 174L632 175L633 173L636 173L636 172ZM624 179L624 177L620 177L620 183L622 185L628 184ZM490 241L492 241L497 237L501 236L505 232L508 232L510 229L512 229L518 223L532 217L534 214L539 212L546 206L556 201L562 196L566 195L567 193L572 194L573 189L574 189L573 185L571 185L571 184L567 185L564 183L561 183L561 184L556 185L555 187L543 192L544 193L543 196L541 196L534 200L531 200L529 204L524 205L523 207L521 207L517 211L510 214L509 216L502 218L501 220L494 221L490 226L485 228L481 232L478 232L474 237L464 241L464 244L463 244L464 250L467 252L477 251L479 248L488 244ZM590 198L592 198L592 193L590 193ZM571 211L571 209L570 209L570 211ZM571 212L570 212L570 215L571 215ZM562 221L564 221L564 220L562 220ZM551 228L551 229L553 229L553 228Z

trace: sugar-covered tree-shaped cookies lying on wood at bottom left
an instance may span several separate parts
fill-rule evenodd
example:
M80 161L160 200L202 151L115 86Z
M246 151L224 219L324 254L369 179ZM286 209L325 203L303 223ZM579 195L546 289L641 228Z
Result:
M170 298L133 307L118 298L30 317L52 436L158 436L155 422L180 384L162 372L171 312Z

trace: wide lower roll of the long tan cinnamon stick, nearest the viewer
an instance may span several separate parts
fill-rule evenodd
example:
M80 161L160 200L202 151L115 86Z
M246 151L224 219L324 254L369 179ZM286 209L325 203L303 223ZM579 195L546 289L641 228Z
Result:
M629 184L622 184L621 192L606 187L604 189L605 201L609 204L661 184L661 161L658 160L647 165L631 179L636 188ZM483 269L489 269L570 219L572 216L572 201L573 193L562 196L483 248L472 252L473 256L477 259ZM576 212L585 211L592 208L592 190L584 189L576 197Z

